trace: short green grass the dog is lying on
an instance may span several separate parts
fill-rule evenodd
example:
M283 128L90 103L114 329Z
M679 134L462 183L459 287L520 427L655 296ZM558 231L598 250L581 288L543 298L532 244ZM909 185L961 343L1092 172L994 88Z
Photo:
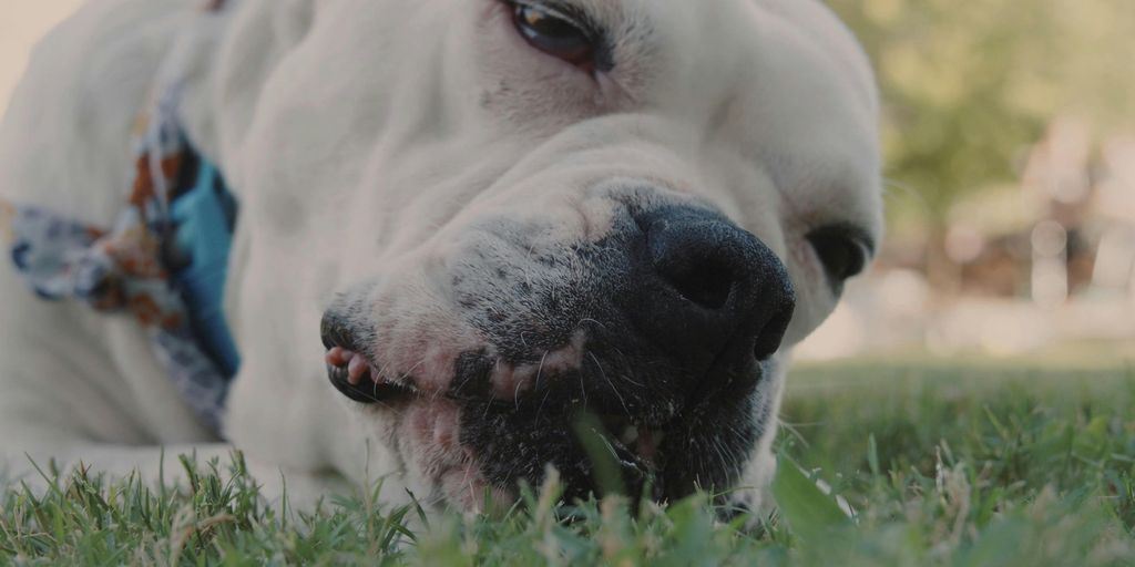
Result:
M1135 371L1025 367L800 369L783 412L782 506L759 528L718 521L706 497L632 514L617 498L556 506L554 486L495 519L426 526L375 493L304 515L207 466L177 491L89 473L43 497L10 492L0 565L1135 565Z

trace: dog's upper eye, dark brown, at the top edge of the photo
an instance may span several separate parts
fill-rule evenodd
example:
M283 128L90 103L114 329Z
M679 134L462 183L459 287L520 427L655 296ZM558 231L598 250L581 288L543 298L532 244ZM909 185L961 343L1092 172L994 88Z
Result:
M595 40L575 18L527 1L512 2L512 8L516 29L530 45L577 67L594 67Z

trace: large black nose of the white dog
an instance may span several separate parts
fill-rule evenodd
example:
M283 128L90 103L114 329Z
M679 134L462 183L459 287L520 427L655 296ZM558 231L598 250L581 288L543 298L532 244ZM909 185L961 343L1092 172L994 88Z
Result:
M666 208L636 217L646 246L631 316L654 344L693 367L722 356L772 356L796 297L780 259L712 211Z

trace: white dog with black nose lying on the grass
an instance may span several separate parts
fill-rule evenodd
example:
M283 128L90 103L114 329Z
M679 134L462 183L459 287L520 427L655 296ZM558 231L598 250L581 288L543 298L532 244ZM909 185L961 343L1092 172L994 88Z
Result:
M236 447L293 490L386 477L474 508L549 465L592 490L587 412L630 489L759 500L788 352L882 227L873 78L819 2L199 3L57 28L0 130L0 196L112 226L178 61L177 119L239 203L222 430L134 318L36 299L5 261L10 474Z

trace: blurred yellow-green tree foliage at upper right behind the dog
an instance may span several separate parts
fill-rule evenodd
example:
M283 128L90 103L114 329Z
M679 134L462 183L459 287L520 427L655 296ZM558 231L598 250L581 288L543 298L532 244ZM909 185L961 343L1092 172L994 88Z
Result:
M892 221L916 226L932 281L953 205L1017 178L1049 121L1135 122L1135 0L829 0L875 62Z

